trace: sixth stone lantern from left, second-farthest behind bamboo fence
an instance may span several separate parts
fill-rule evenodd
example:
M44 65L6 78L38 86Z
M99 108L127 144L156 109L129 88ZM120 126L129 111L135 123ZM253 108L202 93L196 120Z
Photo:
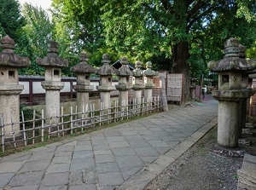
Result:
M135 62L136 69L132 71L133 74L133 87L134 90L134 98L138 103L142 100L142 90L144 89L143 85L143 70L141 70L142 62L137 60Z

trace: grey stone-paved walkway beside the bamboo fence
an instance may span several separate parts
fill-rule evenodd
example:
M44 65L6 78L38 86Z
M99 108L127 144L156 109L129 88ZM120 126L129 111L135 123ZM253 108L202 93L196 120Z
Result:
M177 107L0 158L0 189L143 189L217 124L218 101Z

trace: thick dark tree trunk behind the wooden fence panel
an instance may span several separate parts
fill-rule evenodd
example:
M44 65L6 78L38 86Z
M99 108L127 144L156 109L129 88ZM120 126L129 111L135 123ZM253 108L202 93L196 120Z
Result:
M172 72L184 74L183 102L189 101L189 43L179 42L172 47Z

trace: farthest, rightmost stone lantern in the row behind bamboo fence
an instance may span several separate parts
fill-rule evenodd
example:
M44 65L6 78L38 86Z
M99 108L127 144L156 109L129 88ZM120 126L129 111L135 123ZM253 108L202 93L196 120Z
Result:
M153 94L153 89L154 89L154 83L153 83L153 77L158 75L158 72L154 72L151 67L152 63L148 61L146 66L146 70L143 71L144 74L144 97L146 102L151 102L152 101L152 94Z

